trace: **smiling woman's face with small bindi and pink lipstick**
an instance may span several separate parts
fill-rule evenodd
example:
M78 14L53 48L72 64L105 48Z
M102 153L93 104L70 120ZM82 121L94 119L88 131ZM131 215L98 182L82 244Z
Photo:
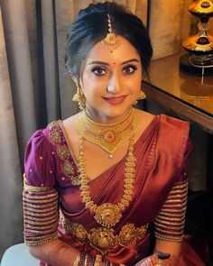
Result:
M81 67L80 86L88 115L97 123L116 123L140 95L142 63L134 46L119 36L110 52L98 42Z

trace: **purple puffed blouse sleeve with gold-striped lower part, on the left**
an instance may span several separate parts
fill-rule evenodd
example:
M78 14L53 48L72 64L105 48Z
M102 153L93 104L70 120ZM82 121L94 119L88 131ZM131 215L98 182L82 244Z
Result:
M59 196L53 154L43 131L34 133L26 147L23 175L24 240L28 245L57 238Z

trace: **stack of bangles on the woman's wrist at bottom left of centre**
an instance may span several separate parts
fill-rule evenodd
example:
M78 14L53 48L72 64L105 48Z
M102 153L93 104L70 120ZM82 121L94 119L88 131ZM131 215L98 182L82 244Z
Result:
M80 252L73 266L124 266L124 264L114 264L101 255L92 256L88 253Z

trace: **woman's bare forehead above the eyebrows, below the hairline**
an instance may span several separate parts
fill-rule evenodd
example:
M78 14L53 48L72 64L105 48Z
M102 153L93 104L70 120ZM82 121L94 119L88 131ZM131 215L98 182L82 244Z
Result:
M110 62L123 62L125 60L137 59L140 61L140 56L134 46L125 38L118 36L119 46L112 52L104 47L100 42L88 52L86 63L91 60L101 60Z

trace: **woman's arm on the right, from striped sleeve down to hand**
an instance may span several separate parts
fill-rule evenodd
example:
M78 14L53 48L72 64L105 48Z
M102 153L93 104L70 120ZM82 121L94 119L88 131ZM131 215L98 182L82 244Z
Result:
M188 156L191 150L188 142L182 167L177 174L177 182L166 201L164 202L159 215L155 218L156 243L153 255L150 260L140 263L139 266L153 266L158 263L157 252L170 254L170 258L162 260L162 266L176 266L181 252L181 241L185 225L185 212L187 205L188 180L186 172L188 169Z

